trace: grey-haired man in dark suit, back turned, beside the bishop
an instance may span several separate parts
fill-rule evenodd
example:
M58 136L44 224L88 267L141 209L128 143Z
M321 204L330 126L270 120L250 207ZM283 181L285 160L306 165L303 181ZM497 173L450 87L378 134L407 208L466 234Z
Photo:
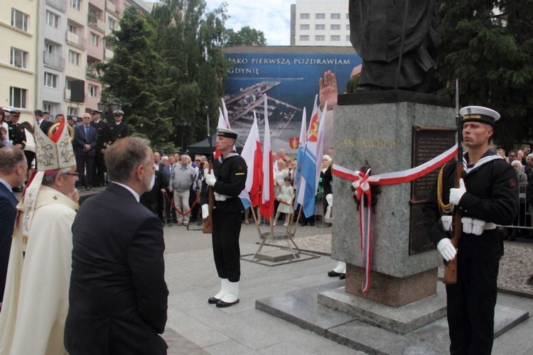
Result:
M79 354L166 354L168 289L163 227L139 203L154 183L149 141L128 137L107 148L109 183L86 200L72 224L70 308L65 348Z

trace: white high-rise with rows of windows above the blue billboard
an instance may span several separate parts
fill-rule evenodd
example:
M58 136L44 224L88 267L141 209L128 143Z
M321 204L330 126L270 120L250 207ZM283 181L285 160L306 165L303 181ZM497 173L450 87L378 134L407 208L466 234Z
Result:
M291 45L351 47L347 0L296 0L291 5Z

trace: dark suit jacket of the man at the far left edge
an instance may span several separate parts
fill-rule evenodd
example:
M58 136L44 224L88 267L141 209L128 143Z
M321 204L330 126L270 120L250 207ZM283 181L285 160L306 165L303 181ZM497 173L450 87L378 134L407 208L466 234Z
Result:
M0 302L4 300L11 236L15 226L16 204L18 201L13 193L0 182Z

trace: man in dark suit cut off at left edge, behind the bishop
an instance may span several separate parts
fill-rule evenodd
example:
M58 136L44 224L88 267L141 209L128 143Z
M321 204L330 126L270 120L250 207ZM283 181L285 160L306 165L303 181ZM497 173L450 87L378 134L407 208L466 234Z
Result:
M28 162L20 148L0 148L0 310L4 300L11 235L18 203L12 189L23 184L26 170Z

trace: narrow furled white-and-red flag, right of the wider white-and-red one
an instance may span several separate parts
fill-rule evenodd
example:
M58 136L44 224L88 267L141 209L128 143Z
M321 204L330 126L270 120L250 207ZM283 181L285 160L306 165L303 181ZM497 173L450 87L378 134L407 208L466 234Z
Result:
M261 215L270 219L274 214L274 165L272 165L272 148L270 146L269 111L264 95L264 141L263 141L263 184L259 210Z

